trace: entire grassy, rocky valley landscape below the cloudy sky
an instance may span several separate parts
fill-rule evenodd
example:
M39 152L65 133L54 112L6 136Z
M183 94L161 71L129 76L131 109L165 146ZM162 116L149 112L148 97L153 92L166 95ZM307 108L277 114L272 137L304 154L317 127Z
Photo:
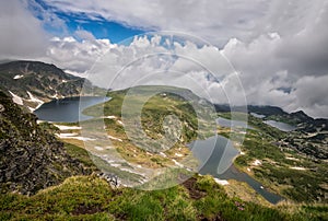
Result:
M105 100L101 96L81 109L74 107L72 113L87 116L81 121L37 120L27 113L33 108L24 107L30 93L37 90L20 92L21 86L15 86L1 94L1 219L327 218L326 119L278 107L249 106L249 113L231 113L218 105L211 109L210 103L189 90L138 86L109 91ZM104 94L94 90L87 95ZM50 101L51 93L39 93L37 100ZM294 130L279 130L266 120L293 125ZM231 149L225 147L232 150L231 159L199 167L203 162L189 144L213 136L222 143L231 142ZM202 153L199 149L198 154ZM17 170L16 162L24 162L23 167ZM116 175L118 185L102 173ZM281 198L270 203L260 191Z

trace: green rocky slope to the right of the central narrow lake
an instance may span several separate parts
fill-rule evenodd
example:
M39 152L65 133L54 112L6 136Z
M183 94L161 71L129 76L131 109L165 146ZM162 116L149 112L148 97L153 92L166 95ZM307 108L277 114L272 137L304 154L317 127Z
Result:
M221 114L230 117L229 114ZM296 202L327 203L327 163L313 161L291 148L279 148L278 142L285 136L297 136L293 132L282 132L263 124L261 119L248 116L248 124L255 129L248 129L239 149L246 154L235 160L235 165L258 179L265 187ZM225 137L233 137L232 131L220 129ZM262 162L259 166L251 163ZM305 171L292 167L304 167ZM250 168L250 172L247 170Z

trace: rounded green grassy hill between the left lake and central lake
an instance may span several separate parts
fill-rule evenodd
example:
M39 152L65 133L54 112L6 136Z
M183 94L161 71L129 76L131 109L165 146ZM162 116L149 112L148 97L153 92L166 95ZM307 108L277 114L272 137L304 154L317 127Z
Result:
M191 154L186 143L198 137L206 138L213 135L213 132L208 132L211 130L208 130L209 126L206 124L209 117L208 111L197 107L199 113L196 114L194 107L198 103L198 97L191 92L169 86L138 86L133 90L136 91L132 95L127 90L109 92L110 101L83 111L83 114L95 117L116 116L116 119L87 120L82 127L95 128L96 126L91 125L96 120L98 120L97 124L104 124L108 135L122 140L112 142L126 161L151 168L167 167L174 164L169 159L179 161L175 158L176 150L179 150L180 154ZM159 91L164 91L165 95ZM153 94L150 98L149 93ZM184 94L191 100L187 101L176 93ZM128 105L127 109L124 104ZM125 111L124 116L121 109ZM136 127L138 109L141 112L140 128ZM171 116L176 116L179 123L174 121ZM128 124L125 128L118 124L118 120L122 118L126 120L125 124ZM168 127L163 126L165 123ZM172 126L176 126L175 129L172 129ZM129 133L125 130L127 128ZM140 130L145 132L147 138L140 135ZM91 132L94 135L96 131ZM176 140L172 142L171 138ZM159 152L164 152L167 158Z

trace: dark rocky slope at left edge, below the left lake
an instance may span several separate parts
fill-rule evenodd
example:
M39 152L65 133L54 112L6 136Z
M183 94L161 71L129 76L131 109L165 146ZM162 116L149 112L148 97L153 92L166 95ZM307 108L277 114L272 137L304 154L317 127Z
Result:
M31 195L78 174L85 174L83 165L65 152L63 143L0 92L1 191Z

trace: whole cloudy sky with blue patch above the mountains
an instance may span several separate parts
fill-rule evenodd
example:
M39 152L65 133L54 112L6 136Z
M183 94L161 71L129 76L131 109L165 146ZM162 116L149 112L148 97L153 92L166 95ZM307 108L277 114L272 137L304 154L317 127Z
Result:
M197 82L216 103L328 118L326 0L1 0L0 33L0 60L42 60L110 88Z

